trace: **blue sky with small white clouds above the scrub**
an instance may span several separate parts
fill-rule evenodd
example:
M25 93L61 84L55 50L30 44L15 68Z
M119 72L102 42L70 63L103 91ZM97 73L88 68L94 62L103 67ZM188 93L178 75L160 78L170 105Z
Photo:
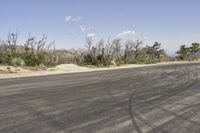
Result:
M83 48L95 39L121 37L162 43L168 53L200 41L199 0L1 0L0 37L18 31L47 34L58 48Z

